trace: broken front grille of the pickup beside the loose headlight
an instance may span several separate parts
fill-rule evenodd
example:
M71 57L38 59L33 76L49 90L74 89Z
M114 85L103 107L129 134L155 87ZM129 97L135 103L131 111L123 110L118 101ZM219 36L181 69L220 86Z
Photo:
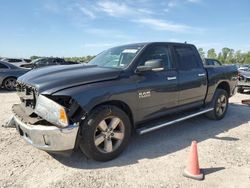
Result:
M24 108L29 109L30 111L35 109L37 90L36 88L17 82L16 85L17 94L20 97L22 105Z

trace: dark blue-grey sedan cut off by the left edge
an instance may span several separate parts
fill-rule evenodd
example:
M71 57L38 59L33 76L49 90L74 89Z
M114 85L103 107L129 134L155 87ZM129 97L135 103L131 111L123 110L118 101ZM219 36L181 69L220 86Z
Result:
M28 69L0 61L0 86L6 90L14 90L17 78L28 71Z

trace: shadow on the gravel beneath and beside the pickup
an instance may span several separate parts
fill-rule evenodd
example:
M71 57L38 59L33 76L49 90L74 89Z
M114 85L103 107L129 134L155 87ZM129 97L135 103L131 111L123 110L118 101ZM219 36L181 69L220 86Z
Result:
M116 159L101 163L88 160L80 150L71 157L53 155L62 164L79 169L97 169L111 166L124 166L137 163L141 159L153 159L174 153L190 146L192 140L202 142L207 139L236 142L239 138L220 137L220 133L250 121L249 107L230 105L223 120L212 121L200 116L178 123L146 135L133 135L129 147Z

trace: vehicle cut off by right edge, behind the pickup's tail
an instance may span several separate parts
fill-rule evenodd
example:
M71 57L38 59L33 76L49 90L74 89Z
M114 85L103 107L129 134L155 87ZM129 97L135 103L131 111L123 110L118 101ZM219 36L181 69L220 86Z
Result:
M238 73L238 93L244 93L245 89L250 89L250 68L239 70Z

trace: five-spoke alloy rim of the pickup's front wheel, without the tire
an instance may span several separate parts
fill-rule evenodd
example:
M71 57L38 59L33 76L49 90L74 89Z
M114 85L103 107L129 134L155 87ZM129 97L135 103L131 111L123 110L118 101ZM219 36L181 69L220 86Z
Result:
M125 126L118 117L107 117L96 127L94 142L97 149L103 153L115 151L122 143Z

